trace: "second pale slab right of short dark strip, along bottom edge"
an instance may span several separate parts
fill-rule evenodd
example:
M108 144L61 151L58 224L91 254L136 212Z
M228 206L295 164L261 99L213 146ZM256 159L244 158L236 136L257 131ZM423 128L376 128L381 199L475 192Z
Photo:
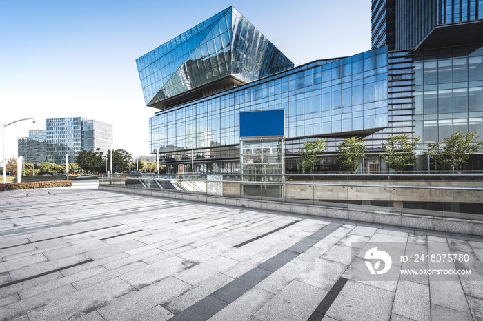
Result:
M393 313L413 320L431 320L429 287L400 280L394 298Z

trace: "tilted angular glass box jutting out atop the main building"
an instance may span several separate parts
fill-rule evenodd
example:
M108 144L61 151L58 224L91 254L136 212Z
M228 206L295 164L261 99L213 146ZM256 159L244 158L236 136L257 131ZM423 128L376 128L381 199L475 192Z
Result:
M293 67L233 7L141 56L136 63L146 105L226 76L248 82Z

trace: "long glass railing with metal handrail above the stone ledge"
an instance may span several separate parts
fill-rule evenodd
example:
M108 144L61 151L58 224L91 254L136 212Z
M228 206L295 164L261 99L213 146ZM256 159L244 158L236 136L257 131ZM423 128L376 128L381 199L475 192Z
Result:
M103 174L100 185L483 220L483 174Z

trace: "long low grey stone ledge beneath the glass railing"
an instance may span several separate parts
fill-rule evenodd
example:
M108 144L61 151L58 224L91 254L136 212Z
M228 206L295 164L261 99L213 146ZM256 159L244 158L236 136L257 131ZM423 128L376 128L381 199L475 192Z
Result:
M99 186L103 191L118 191L121 193L141 194L166 198L193 200L202 203L215 203L253 209L268 209L270 211L284 211L296 214L308 214L326 218L343 220L357 220L376 224L413 227L415 229L429 229L457 234L471 234L483 236L483 221L460 218L444 218L438 216L424 216L384 211L364 211L361 209L340 209L322 205L308 205L297 203L280 203L271 200L254 200L248 198L229 198L224 196L206 196L199 194L175 193L172 191L152 191L146 189L128 189L123 187Z

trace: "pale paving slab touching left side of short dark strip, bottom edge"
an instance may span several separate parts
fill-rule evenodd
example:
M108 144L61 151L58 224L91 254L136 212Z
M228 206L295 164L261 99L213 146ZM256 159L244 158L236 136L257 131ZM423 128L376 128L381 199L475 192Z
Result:
M259 320L307 320L327 291L293 281L254 314Z

